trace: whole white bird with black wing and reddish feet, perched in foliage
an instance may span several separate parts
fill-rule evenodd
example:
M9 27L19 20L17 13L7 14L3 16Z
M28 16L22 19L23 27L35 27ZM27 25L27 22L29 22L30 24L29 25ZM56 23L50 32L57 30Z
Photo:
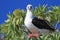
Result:
M31 4L28 4L27 13L25 17L24 24L28 28L28 30L32 33L32 36L37 37L38 35L49 34L50 32L55 31L46 20L39 19L33 15L33 7ZM31 36L30 35L30 36Z

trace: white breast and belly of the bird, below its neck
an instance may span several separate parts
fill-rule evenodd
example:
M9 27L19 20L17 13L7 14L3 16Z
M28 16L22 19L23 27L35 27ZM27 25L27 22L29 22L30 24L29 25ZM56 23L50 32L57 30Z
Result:
M32 24L32 19L25 19L25 26L33 33L38 33L39 29Z

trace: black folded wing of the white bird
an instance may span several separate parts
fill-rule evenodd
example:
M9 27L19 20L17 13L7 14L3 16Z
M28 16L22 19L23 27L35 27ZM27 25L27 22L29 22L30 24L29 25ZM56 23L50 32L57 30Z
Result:
M48 30L52 30L54 31L55 29L52 28L47 22L46 20L42 20L42 19L39 19L39 18L36 18L34 17L32 19L32 23L33 25L35 25L37 28L39 29L48 29Z

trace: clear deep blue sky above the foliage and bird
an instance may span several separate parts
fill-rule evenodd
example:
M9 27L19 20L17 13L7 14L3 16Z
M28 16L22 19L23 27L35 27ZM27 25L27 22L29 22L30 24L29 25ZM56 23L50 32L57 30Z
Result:
M33 7L38 5L60 6L59 0L0 0L0 24L7 20L7 14L15 9L26 9L27 4L32 4Z

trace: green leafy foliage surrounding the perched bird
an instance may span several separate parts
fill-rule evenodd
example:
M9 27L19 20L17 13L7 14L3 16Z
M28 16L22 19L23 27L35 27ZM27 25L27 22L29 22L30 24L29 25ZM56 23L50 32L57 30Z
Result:
M34 9L33 13L38 18L48 20L51 25L54 24L55 21L60 22L60 7L51 7L50 11L46 5L38 6ZM49 12L50 11L50 12ZM4 24L0 25L0 31L4 34L4 40L25 40L25 26L24 18L26 15L26 11L16 9L12 14L8 15L8 19ZM27 36L27 40L28 40ZM31 38L34 40L34 38ZM50 35L43 35L42 37L38 37L38 40L60 40L60 33L51 33Z

